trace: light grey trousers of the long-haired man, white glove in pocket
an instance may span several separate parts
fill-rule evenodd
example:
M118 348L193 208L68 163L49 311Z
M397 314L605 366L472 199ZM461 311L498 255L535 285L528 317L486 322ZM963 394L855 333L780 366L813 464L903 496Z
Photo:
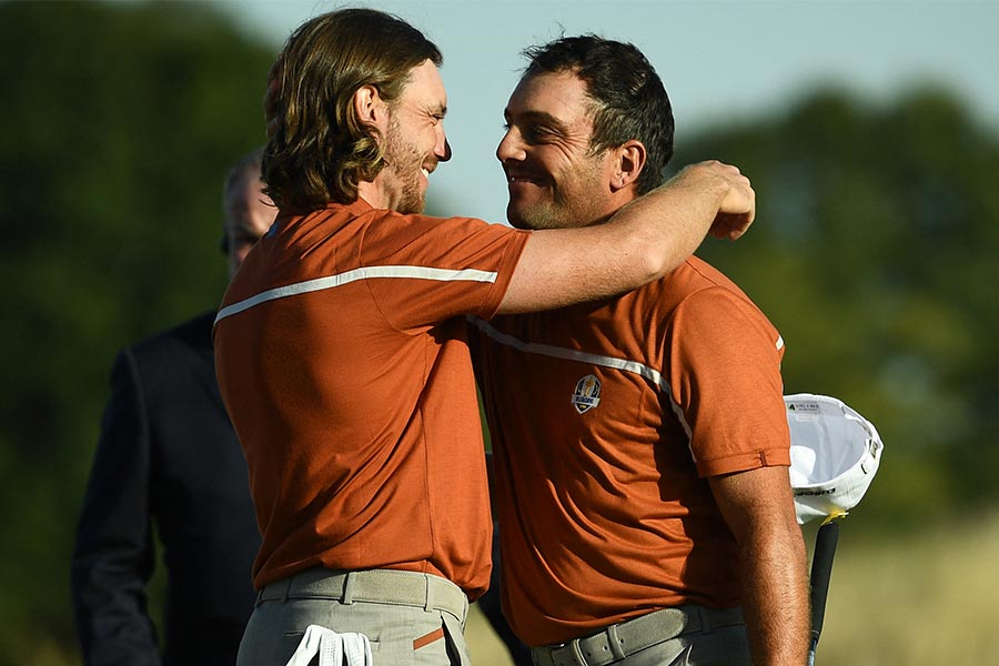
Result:
M443 578L391 572L392 578L402 583L433 583L426 585L428 597L417 601L412 594L400 594L394 599L360 601L350 592L346 599L342 593L331 593L331 582L340 587L342 572L310 569L304 574L269 585L258 595L236 666L284 666L311 624L339 633L364 634L371 640L372 658L379 666L470 664L464 638L467 601L464 609L454 608L454 604L450 605L453 610L438 607L433 589L454 587ZM359 572L364 574L367 572ZM391 589L392 586L390 594Z

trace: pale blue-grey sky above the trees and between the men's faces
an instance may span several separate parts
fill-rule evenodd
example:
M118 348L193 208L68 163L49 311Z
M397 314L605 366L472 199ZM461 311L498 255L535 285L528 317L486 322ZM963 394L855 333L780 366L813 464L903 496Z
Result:
M275 53L327 0L219 2ZM885 103L919 82L944 84L999 133L999 0L362 0L410 21L444 53L451 162L431 196L452 214L505 220L495 159L519 50L595 32L646 54L673 102L677 143L702 127L781 112L826 83ZM678 165L674 165L678 167ZM750 174L751 178L751 174Z

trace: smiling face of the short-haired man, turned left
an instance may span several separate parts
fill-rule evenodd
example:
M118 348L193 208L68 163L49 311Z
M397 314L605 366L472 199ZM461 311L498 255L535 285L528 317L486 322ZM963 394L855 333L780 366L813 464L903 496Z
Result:
M496 157L509 190L506 216L517 229L587 226L619 208L614 154L591 152L593 103L573 72L523 79L511 94Z

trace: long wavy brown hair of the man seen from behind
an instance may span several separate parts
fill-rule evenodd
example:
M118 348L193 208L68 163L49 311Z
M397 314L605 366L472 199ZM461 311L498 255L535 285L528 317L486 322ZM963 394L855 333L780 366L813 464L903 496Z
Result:
M402 19L341 9L311 19L289 38L268 105L276 120L263 158L264 190L281 209L310 211L357 199L357 184L384 167L376 130L353 105L364 85L398 100L413 68L441 65L437 47Z

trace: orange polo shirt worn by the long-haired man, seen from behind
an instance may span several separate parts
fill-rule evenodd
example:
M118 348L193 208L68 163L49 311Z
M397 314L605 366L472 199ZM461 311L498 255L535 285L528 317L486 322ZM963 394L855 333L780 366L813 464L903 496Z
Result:
M225 293L215 370L246 455L258 588L322 565L488 585L492 522L461 315L528 233L363 200L279 215Z

